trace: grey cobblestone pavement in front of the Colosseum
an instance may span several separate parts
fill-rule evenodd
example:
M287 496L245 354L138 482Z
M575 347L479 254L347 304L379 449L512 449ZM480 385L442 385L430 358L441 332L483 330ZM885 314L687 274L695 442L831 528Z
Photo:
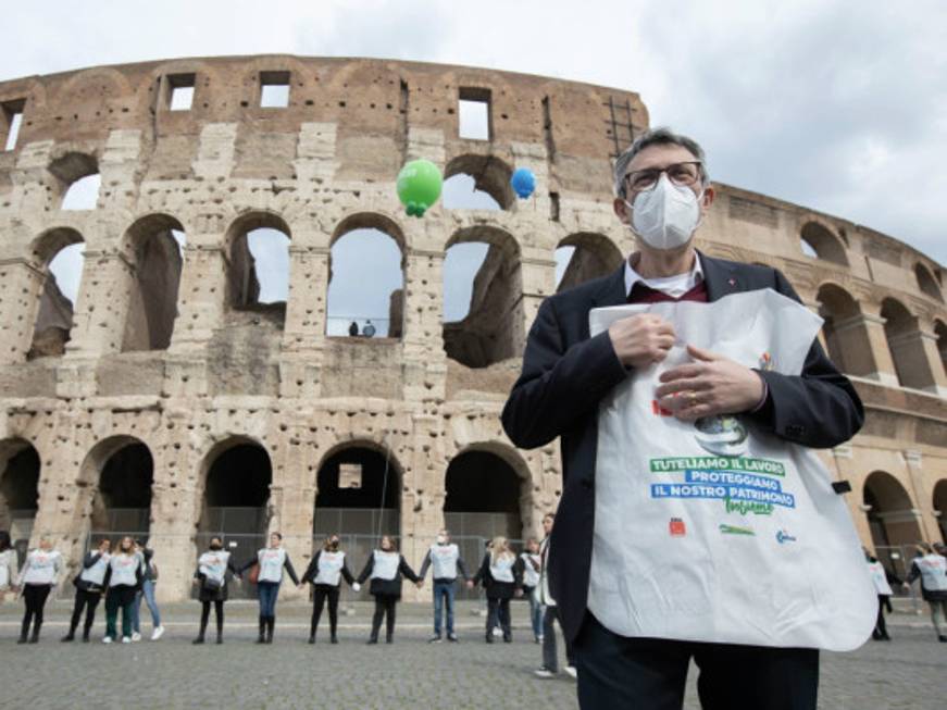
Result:
M338 646L306 643L309 608L281 603L272 646L257 646L256 606L227 603L223 646L192 646L197 605L162 609L167 633L130 646L101 643L100 607L90 644L59 643L67 602L47 608L38 645L15 643L22 608L0 607L0 696L5 708L575 708L575 682L533 677L539 647L532 643L524 603L513 605L514 643L483 642L475 605L461 606L461 643L429 645L429 607L400 605L392 646L367 647L370 608L340 619ZM151 624L142 607L142 631ZM944 710L947 644L924 616L896 614L890 644L868 643L851 653L824 653L820 709ZM211 616L213 627L213 615ZM562 649L560 645L560 656ZM698 708L696 669L685 708ZM133 678L135 682L133 683ZM743 709L737 709L743 710Z

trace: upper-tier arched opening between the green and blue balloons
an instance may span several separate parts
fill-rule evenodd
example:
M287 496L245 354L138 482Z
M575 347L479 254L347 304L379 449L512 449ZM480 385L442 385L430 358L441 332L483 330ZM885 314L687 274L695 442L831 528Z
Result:
M494 155L459 155L444 171L444 209L508 210L515 200L511 175L510 166Z

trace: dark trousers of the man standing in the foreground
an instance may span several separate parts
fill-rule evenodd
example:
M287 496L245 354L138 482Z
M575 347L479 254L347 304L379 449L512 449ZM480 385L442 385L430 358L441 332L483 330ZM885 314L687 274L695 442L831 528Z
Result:
M814 649L626 638L586 613L574 653L585 709L681 710L693 658L703 710L815 710Z

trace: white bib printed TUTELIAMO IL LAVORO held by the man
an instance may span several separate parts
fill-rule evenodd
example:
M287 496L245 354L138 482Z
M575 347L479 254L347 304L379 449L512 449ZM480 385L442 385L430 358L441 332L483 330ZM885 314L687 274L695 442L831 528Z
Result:
M589 609L624 636L860 646L877 600L818 456L736 416L681 422L653 396L661 373L691 361L686 345L798 375L821 319L765 289L595 309L589 329L641 312L671 322L676 342L599 407Z

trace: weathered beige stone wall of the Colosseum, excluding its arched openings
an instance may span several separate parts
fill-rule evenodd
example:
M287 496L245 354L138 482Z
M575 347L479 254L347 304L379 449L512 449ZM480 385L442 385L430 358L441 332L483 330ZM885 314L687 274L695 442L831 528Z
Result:
M261 72L288 72L287 108L259 107ZM190 111L169 110L169 77L179 74L195 75ZM458 137L464 88L489 89L490 140ZM488 260L511 274L512 296L482 289L475 300L496 302L490 308L510 319L509 351L520 352L539 303L555 291L557 247L590 250L570 281L613 267L615 254L632 249L611 211L609 157L616 127L626 135L648 125L636 95L466 67L277 55L0 84L0 103L21 99L15 150L0 152L0 443L25 440L39 452L35 534L55 536L75 564L101 466L121 446L142 441L154 461L150 534L163 561L159 588L179 598L189 588L209 460L237 439L259 443L270 456L271 530L284 533L297 565L311 553L320 463L345 443L390 452L412 563L443 524L445 473L464 450L491 451L518 472L528 493L524 533L538 532L541 511L560 495L558 449L518 451L501 431L516 358L471 369L445 354L445 253L477 239L513 260ZM418 157L479 174L507 209L438 205L423 220L403 216L395 176ZM537 176L528 201L513 200L504 183L516 166ZM102 177L97 209L60 210L67 182L94 169ZM876 470L902 483L923 536L936 538L933 488L947 478L947 374L934 335L947 322L940 265L864 227L718 189L700 235L709 253L780 266L813 309L825 310L826 284L856 301L833 321L831 338L862 346L857 386L869 423L826 460L855 486L849 500L864 539L861 486ZM277 223L290 237L285 311L235 309L229 274L241 252L234 240L248 225ZM165 349L140 350L135 329L142 311L166 314L171 306L136 300L139 272L147 271L142 225L178 225L187 236ZM401 313L400 337L325 335L329 249L360 226L383 228L402 251L403 303L391 309ZM802 254L803 232L820 259ZM76 239L86 251L71 340L62 357L27 361L49 259ZM919 264L935 290L921 289ZM164 283L166 274L150 278L144 283ZM893 344L881 315L889 298L911 319ZM899 385L892 356L898 349L918 373L912 388Z

